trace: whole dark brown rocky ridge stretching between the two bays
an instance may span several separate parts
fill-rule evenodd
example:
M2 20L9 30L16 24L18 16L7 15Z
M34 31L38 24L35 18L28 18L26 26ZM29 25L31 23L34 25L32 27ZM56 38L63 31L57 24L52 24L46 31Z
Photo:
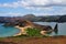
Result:
M36 29L40 29L40 30L43 30L43 31L48 31L48 30L52 30L52 28L50 25L40 25L40 24L35 24L35 23L32 23L28 20L19 20L15 22L9 22L9 23L6 23L4 25L12 25L12 26L15 26L15 25L19 25L19 26L32 26L32 28L36 28Z

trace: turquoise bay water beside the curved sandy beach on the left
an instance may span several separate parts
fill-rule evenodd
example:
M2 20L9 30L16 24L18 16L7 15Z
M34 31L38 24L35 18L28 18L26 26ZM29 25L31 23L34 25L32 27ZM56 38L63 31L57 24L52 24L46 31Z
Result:
M2 26L0 24L0 37L13 36L14 34L19 33L20 30L12 28L12 26Z

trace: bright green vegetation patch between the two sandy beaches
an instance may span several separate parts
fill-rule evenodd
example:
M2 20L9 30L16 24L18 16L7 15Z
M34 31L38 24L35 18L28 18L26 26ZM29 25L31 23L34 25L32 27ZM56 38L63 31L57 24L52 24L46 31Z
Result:
M42 36L40 32L41 32L41 30L35 29L35 28L33 28L33 29L28 28L28 30L26 30L26 33L29 36L37 36L37 37Z

